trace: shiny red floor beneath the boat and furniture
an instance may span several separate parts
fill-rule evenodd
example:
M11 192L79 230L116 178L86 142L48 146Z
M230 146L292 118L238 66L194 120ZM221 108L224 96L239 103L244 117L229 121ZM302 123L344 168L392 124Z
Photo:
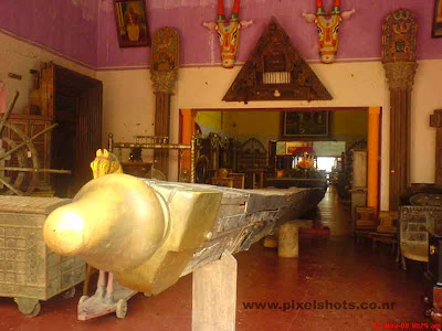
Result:
M402 271L388 247L373 253L370 245L355 245L348 233L349 209L334 192L320 203L316 220L338 235L330 239L301 242L297 259L278 258L276 250L255 244L238 258L236 330L388 330L375 323L424 322L420 301L421 270ZM162 293L135 296L123 320L109 314L76 320L74 299L53 298L42 302L41 314L24 318L13 299L0 298L0 331L33 330L191 330L191 275ZM78 292L81 286L77 288ZM296 302L394 302L394 309L299 309ZM246 309L244 302L275 302L288 309ZM293 307L292 307L293 305ZM292 309L298 308L298 309ZM391 328L390 328L391 329ZM412 330L412 325L409 324Z

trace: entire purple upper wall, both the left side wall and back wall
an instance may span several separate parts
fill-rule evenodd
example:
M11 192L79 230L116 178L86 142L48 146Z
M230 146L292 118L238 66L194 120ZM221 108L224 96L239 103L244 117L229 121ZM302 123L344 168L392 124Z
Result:
M224 2L230 15L233 0ZM315 11L315 0L241 2L240 18L255 24L241 33L238 61L246 61L272 15L305 58L318 60L316 26L301 17ZM324 0L326 9L332 2ZM433 0L341 0L341 10L357 12L341 23L338 58L380 57L381 24L399 8L417 15L418 58L442 58L442 39L431 38L433 7ZM220 62L218 39L202 26L215 19L217 0L146 0L146 8L150 34L162 26L179 31L182 64ZM0 0L0 26L98 68L150 63L149 47L119 49L113 0Z

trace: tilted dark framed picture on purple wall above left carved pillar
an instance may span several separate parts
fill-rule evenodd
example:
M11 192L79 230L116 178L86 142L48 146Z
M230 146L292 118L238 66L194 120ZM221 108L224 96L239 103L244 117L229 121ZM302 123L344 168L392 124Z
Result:
M151 45L145 0L115 0L114 11L119 47Z

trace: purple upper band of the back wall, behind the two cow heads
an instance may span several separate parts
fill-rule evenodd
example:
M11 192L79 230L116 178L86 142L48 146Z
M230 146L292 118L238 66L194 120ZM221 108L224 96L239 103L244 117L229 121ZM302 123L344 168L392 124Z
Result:
M307 60L318 60L317 30L307 23L303 11L314 12L315 0L242 0L240 18L253 20L254 25L243 30L238 61L246 61L263 30L274 15L285 29L292 43ZM332 0L324 0L326 10ZM181 62L183 64L207 64L220 62L218 39L211 46L210 34L202 26L217 15L217 0L146 0L150 33L161 26L171 26L181 36ZM233 0L224 0L230 17ZM381 24L392 11L406 8L412 10L419 23L418 58L442 58L442 39L431 39L433 0L341 0L341 10L355 8L356 14L344 21L340 28L338 58L380 57ZM116 38L112 1L101 2L98 33L98 66L130 66L149 63L149 49L119 49Z

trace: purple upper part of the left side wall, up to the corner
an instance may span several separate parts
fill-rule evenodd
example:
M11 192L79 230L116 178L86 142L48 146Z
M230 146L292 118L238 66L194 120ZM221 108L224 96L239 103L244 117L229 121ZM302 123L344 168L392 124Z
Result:
M0 28L97 65L98 0L0 0Z

